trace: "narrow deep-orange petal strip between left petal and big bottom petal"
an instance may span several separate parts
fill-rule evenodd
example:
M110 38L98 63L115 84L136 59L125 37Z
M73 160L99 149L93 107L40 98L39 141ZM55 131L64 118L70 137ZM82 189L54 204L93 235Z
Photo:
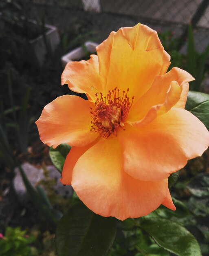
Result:
M62 169L62 178L60 179L63 185L71 185L73 168L77 160L86 152L86 150L96 144L98 140L99 138L84 147L72 147L70 149L70 152L65 159Z

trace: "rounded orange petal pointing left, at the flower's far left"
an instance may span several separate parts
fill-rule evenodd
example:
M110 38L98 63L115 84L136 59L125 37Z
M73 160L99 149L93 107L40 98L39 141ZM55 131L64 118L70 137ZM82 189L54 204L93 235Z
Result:
M94 141L99 134L90 132L92 106L90 101L71 95L58 97L46 105L36 121L42 142L56 148L62 143L85 146Z

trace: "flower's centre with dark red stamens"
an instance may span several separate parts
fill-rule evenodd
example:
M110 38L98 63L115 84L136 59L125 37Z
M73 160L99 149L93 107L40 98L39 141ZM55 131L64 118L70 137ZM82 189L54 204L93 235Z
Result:
M111 134L117 136L117 130L119 127L124 128L124 121L128 116L128 112L132 106L134 97L130 102L127 96L129 89L123 91L122 97L120 97L120 90L114 88L109 91L107 96L103 97L100 92L100 97L96 93L95 110L90 111L93 121L91 132L99 132L99 134L108 138Z

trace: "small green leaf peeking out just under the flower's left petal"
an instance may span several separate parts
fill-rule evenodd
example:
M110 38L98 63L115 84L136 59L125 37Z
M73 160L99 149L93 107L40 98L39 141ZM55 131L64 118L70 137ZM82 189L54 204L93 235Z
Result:
M63 143L60 144L57 148L51 147L49 150L51 161L60 173L62 173L62 168L70 149L71 147L68 144Z

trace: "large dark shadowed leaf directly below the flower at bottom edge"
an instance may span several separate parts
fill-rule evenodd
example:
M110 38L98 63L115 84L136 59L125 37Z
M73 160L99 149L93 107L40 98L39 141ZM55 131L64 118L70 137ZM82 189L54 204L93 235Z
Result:
M58 256L105 256L116 234L114 218L99 216L83 203L75 204L57 225Z

